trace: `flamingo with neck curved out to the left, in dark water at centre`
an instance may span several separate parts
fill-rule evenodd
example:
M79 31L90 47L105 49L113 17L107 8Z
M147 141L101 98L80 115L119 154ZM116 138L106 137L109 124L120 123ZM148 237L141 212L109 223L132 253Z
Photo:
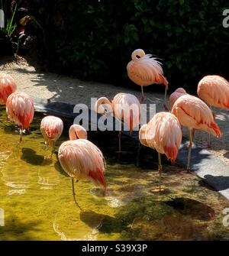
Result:
M95 112L105 114L105 109L102 107L105 104L108 112L112 112L114 117L123 121L127 128L132 133L134 127L140 125L140 102L134 95L130 93L118 93L110 102L108 98L102 97L95 102ZM119 151L121 152L121 131L119 131Z

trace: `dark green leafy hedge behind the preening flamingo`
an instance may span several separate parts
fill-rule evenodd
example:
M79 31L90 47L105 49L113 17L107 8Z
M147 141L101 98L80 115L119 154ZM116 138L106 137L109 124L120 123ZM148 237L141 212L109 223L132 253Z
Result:
M42 23L53 68L119 85L131 84L126 66L142 48L162 59L170 92L195 91L208 73L229 78L227 0L29 1Z

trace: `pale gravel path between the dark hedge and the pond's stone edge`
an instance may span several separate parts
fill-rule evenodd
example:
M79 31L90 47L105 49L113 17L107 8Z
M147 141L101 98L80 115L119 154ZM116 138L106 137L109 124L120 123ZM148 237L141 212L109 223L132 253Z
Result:
M0 60L0 71L10 74L16 80L18 91L27 92L30 96L53 101L66 102L70 104L84 103L90 105L91 98L106 96L112 99L118 92L129 92L140 98L140 88L130 89L125 87L112 86L111 84L84 82L79 79L60 76L56 73L37 71L34 66L27 63L22 57L11 57ZM147 103L156 104L156 112L163 110L163 93L147 92L145 89ZM212 147L208 149L229 165L229 112L216 110L216 122L223 133L222 138L212 138ZM184 130L186 136L186 131ZM208 134L197 131L195 144L199 147L206 147Z

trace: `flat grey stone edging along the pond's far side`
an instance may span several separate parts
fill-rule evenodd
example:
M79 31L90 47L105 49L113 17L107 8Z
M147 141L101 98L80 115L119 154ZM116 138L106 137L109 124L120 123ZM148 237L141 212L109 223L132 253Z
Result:
M34 106L36 112L46 112L50 113L50 115L58 115L63 118L75 118L78 115L73 112L74 105L52 101L51 99L34 98ZM93 122L90 115L89 122ZM123 131L123 134L138 141L137 131L134 131L132 135L128 131ZM179 155L176 158L176 163L182 167L186 165L188 143L189 142L183 138ZM196 147L194 144L192 147L191 167L195 174L202 178L205 183L208 183L214 190L217 190L221 195L229 199L229 168L227 164L213 154L210 154L206 149Z

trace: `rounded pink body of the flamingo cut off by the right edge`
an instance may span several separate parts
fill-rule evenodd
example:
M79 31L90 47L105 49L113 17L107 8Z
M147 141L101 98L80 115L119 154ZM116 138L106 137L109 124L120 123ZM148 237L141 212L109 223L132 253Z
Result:
M229 82L221 76L205 76L198 83L198 97L218 109L229 109Z

